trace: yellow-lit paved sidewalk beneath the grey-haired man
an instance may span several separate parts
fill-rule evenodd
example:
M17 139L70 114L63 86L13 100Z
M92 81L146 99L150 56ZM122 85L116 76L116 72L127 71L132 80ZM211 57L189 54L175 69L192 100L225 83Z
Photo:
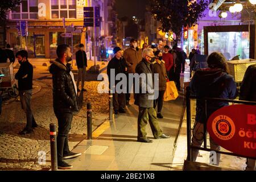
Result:
M133 100L131 100L133 102ZM184 113L184 97L164 102L164 119L159 119L168 139L154 139L150 126L147 137L152 143L137 142L138 106L127 107L126 114L115 115L113 121L104 122L93 132L93 140L83 140L74 152L82 152L77 159L67 162L72 170L171 170L174 141Z

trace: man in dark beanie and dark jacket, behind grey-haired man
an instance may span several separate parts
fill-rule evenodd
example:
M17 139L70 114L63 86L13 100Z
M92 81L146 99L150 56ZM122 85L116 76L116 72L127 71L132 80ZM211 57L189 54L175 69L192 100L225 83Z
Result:
M112 90L113 93L113 107L114 107L114 113L126 113L125 106L126 106L126 99L125 99L125 93L121 92L121 90L116 89L116 85L118 84L118 80L115 80L115 77L119 73L125 74L127 72L127 65L125 62L125 59L122 57L122 50L119 47L115 47L113 49L114 57L112 60L109 61L108 67L107 67L107 73L109 77L109 88ZM115 75L114 77L111 76L110 72L114 71ZM111 85L113 84L113 85ZM123 88L121 88L123 89Z

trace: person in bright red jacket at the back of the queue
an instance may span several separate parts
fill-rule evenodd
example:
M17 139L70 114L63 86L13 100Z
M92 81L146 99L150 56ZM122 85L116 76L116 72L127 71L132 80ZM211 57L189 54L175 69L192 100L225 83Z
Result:
M163 60L164 60L164 65L166 66L166 72L169 80L174 80L174 77L171 76L171 70L174 69L174 56L169 53L168 51L170 50L169 46L164 46L164 53L163 53Z

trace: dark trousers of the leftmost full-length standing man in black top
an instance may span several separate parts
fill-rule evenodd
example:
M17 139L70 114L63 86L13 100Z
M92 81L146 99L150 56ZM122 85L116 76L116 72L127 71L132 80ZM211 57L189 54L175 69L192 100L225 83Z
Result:
M19 98L22 109L26 113L27 118L27 130L32 130L32 125L35 125L35 118L31 109L31 97L32 97L32 89L31 90L19 90Z

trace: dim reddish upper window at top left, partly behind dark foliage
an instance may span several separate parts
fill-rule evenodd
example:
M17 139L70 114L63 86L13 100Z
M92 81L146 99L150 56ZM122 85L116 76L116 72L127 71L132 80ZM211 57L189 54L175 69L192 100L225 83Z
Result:
M38 19L38 0L22 0L20 6L11 11L11 19Z

